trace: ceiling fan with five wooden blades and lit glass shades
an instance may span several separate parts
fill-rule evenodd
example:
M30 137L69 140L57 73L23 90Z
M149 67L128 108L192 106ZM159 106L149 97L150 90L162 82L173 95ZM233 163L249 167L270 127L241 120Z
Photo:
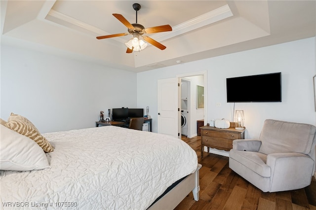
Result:
M171 26L163 25L163 26L156 26L156 27L145 29L144 26L137 23L137 11L140 10L141 8L140 4L134 3L133 8L136 11L136 23L133 23L133 24L130 24L121 14L113 14L114 17L116 17L122 24L124 24L127 27L128 33L103 35L103 36L97 36L96 38L97 39L112 38L112 37L124 36L124 35L130 34L130 35L133 35L133 38L131 38L128 42L125 43L125 45L127 46L126 53L132 53L133 51L141 51L145 49L148 45L145 41L158 47L160 50L164 50L166 46L162 45L158 41L144 34L153 34L153 33L158 33L158 32L172 31Z

